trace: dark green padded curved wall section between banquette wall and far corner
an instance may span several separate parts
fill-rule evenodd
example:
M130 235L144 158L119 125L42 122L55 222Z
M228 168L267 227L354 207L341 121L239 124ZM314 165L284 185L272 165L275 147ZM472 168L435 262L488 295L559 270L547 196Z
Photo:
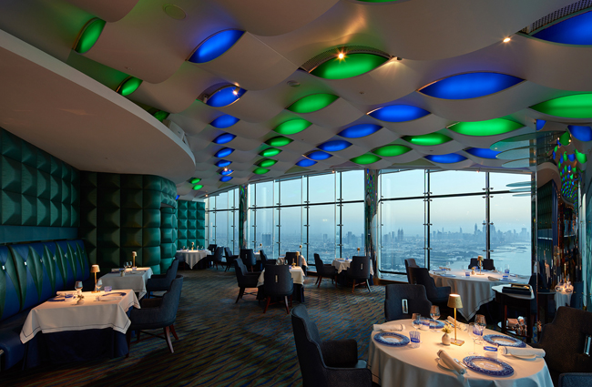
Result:
M81 172L79 234L90 261L107 271L136 251L137 266L166 270L175 256L167 208L175 209L176 195L175 184L158 176ZM163 224L168 231L161 231Z

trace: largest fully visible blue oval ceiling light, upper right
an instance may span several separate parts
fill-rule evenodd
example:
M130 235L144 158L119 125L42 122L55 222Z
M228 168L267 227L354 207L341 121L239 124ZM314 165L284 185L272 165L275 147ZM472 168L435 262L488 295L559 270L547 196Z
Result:
M417 91L435 98L468 99L489 96L523 81L522 78L499 73L466 73L448 76Z

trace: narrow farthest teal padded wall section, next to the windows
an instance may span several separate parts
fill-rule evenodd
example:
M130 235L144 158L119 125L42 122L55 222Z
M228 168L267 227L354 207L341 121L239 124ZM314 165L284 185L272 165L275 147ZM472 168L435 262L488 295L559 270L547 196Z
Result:
M196 249L206 244L206 204L200 201L177 201L177 247L191 247L195 243Z

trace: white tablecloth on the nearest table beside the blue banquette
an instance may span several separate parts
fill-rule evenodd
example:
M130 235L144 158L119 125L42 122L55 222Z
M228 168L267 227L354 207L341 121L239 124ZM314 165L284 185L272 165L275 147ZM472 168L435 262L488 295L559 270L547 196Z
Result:
M128 309L132 306L139 309L136 293L132 290L117 290L112 293L126 293L121 300L100 301L105 291L92 293L85 291L85 303L77 305L76 300L46 301L36 306L26 317L21 331L21 341L26 343L33 339L37 332L53 333L57 331L84 331L112 328L114 331L128 331ZM120 296L117 294L117 296Z

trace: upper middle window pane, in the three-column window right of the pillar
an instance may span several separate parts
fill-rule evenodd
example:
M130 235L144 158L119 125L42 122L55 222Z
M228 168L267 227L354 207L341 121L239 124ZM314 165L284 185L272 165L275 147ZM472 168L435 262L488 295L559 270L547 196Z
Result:
M430 172L430 191L434 195L485 192L485 172L444 170Z

